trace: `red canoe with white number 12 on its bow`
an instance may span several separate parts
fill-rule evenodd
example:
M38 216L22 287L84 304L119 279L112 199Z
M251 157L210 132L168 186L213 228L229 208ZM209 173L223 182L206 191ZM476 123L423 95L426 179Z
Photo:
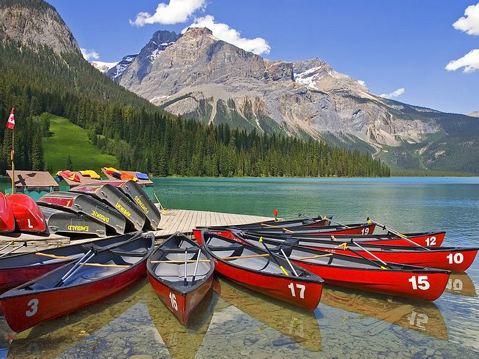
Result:
M233 230L234 232L235 230ZM424 247L439 247L444 240L445 232L420 232L420 233L405 233L407 239L398 237L397 235L297 235L295 233L257 233L251 231L240 231L240 233L248 233L256 237L268 237L271 239L285 239L295 243L296 241L319 242L319 243L343 243L349 242L351 239L357 243L378 244L378 245L400 245L405 247L412 247L422 245ZM224 237L231 237L231 232L218 232ZM234 237L234 236L233 236ZM411 243L413 242L413 243ZM429 243L429 244L428 244Z

